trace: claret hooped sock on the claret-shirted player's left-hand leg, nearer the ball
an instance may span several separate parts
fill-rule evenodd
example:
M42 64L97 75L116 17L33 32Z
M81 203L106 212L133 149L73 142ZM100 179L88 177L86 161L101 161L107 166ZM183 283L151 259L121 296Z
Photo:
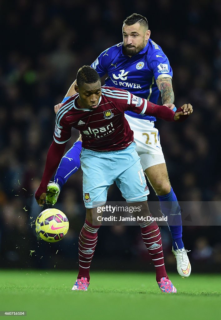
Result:
M79 236L79 273L77 278L87 278L90 281L90 266L94 250L98 242L98 229L100 226L93 226L85 220Z

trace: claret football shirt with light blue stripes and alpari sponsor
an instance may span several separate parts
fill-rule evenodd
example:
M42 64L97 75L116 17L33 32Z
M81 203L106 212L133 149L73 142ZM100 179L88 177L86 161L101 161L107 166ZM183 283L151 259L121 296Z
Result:
M71 138L73 127L82 135L83 148L94 151L125 149L133 142L133 131L124 117L125 111L174 121L174 113L169 108L157 106L123 89L101 87L96 109L80 108L78 98L78 93L70 97L56 115L54 141L58 144Z

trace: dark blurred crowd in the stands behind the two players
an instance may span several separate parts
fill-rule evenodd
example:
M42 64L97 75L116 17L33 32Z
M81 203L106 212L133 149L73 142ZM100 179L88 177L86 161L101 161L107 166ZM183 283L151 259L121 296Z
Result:
M157 120L173 190L180 201L221 200L219 0L3 0L0 267L77 268L77 237L85 217L81 170L68 180L56 205L70 221L64 240L37 242L33 226L42 210L34 194L53 139L53 107L63 99L78 68L122 41L122 21L133 12L146 16L151 39L170 60L176 106L190 102L194 109L183 124ZM67 149L77 136L73 131ZM122 200L115 186L108 200ZM151 188L149 200L157 201ZM166 227L161 231L167 268L175 271L170 234ZM183 228L195 272L220 270L220 231L219 226ZM154 270L138 227L103 227L99 240L94 269Z

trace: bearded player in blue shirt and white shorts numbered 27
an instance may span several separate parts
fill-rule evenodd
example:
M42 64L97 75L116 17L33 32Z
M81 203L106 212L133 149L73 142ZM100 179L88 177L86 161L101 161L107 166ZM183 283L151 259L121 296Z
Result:
M124 20L122 31L123 42L102 52L91 67L100 77L108 75L105 80L107 86L126 89L153 103L157 103L159 92L161 92L162 104L170 103L175 111L170 62L161 47L150 39L146 18L133 13ZM76 93L75 83L76 81L71 85L62 102ZM134 101L137 106L139 103L139 99ZM55 106L55 112L60 106L61 104ZM138 115L132 111L126 111L125 117L134 132L136 150L143 170L160 200L162 213L168 217L173 239L172 252L177 260L178 273L182 277L188 277L191 273L191 265L182 241L180 207L170 185L159 132L154 124L156 119L153 116ZM80 167L80 152L81 139L76 141L62 158L54 183L48 185L46 196L48 203L56 203L63 184Z

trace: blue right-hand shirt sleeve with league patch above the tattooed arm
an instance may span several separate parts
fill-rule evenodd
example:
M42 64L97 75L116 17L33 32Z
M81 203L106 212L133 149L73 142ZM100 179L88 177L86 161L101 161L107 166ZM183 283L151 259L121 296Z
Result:
M173 71L167 56L160 51L154 52L149 60L149 66L153 70L155 80L160 76L169 76L172 78Z

